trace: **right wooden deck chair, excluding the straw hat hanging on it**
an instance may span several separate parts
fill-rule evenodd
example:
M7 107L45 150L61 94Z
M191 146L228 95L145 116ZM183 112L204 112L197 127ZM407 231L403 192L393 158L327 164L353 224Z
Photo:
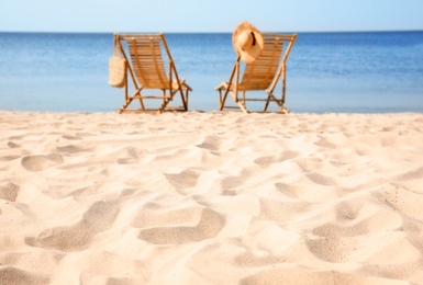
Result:
M264 49L254 62L241 66L241 58L237 57L232 70L229 82L222 82L215 88L219 91L220 111L224 107L241 109L245 113L251 113L247 109L247 101L264 101L265 106L261 112L268 112L270 102L275 102L280 110L279 113L289 113L285 107L286 98L286 71L287 59L297 39L297 34L275 34L263 33ZM240 70L243 69L243 77L240 81ZM275 88L281 80L281 94L274 94ZM266 98L247 98L247 91L265 91ZM240 95L238 93L242 93ZM227 94L231 94L237 106L225 106Z

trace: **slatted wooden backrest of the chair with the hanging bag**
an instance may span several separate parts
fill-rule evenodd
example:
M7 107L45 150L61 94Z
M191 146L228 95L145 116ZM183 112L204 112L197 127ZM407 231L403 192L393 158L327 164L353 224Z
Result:
M132 68L137 81L146 89L169 89L163 50L171 62L166 39L163 34L121 35L127 43ZM169 67L171 68L171 67Z

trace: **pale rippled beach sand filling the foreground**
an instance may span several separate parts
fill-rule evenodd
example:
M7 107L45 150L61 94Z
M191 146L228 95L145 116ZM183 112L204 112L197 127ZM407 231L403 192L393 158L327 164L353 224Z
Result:
M423 284L423 114L0 129L1 284Z

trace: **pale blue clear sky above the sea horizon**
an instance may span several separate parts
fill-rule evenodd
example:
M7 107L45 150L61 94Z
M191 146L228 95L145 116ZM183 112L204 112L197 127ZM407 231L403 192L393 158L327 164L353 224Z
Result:
M0 0L0 32L423 31L423 0Z

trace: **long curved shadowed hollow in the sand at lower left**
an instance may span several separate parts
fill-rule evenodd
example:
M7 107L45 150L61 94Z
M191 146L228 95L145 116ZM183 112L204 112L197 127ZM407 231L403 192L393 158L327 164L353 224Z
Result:
M62 251L82 250L89 246L96 233L112 227L118 214L119 207L115 203L99 201L91 205L84 214L82 220L76 225L46 229L36 238L25 238L25 243Z

